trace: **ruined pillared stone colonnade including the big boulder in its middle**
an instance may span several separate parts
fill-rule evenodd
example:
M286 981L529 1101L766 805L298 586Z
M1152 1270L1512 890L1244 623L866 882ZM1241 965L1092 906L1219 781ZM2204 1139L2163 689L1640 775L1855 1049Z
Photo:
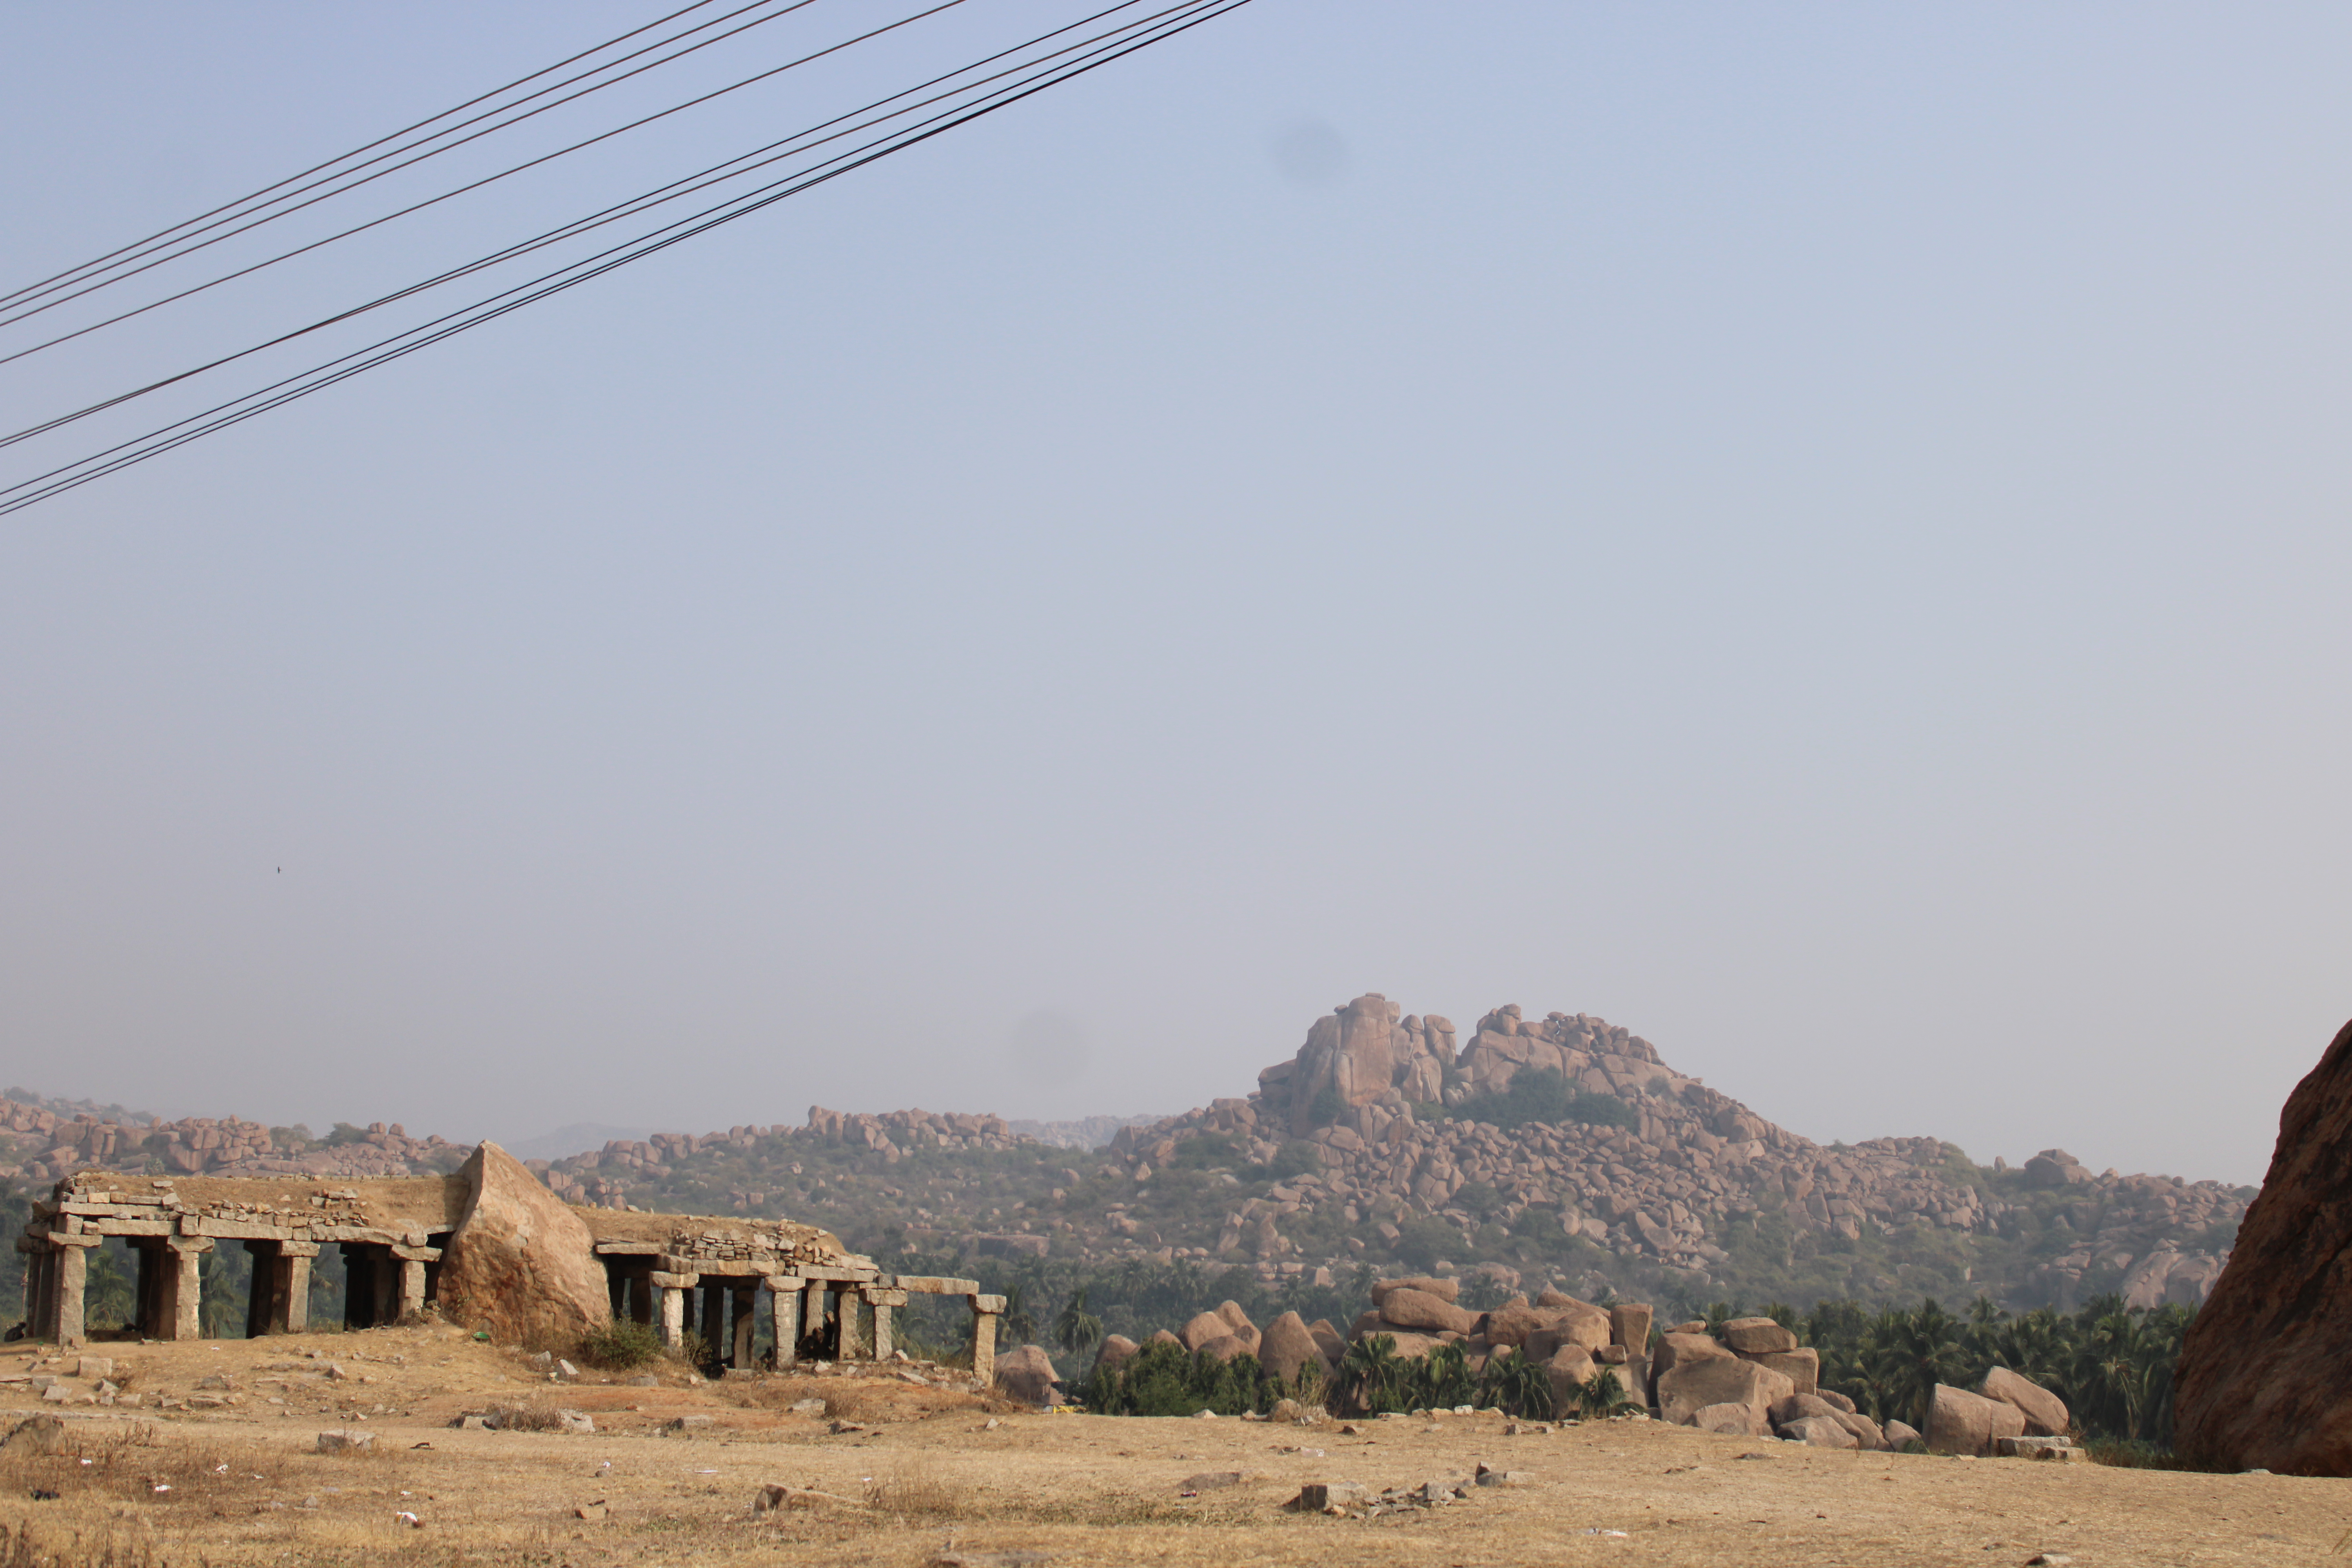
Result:
M235 1241L254 1258L245 1333L308 1328L310 1260L339 1246L346 1328L428 1307L499 1338L576 1338L619 1319L663 1345L687 1333L727 1368L750 1368L760 1316L776 1363L804 1347L828 1359L889 1359L908 1295L962 1295L971 1371L995 1373L1002 1295L974 1279L887 1274L837 1237L783 1220L579 1208L494 1143L452 1175L360 1182L169 1178L75 1171L35 1201L26 1255L26 1333L82 1345L89 1248L122 1237L139 1258L141 1338L200 1338L202 1258Z

